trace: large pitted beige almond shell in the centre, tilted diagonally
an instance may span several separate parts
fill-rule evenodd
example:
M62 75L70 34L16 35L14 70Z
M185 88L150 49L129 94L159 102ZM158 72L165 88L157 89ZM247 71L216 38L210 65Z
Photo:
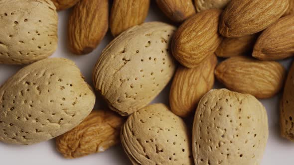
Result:
M115 38L93 71L95 88L123 116L145 107L170 81L175 62L169 51L174 26L147 22Z

